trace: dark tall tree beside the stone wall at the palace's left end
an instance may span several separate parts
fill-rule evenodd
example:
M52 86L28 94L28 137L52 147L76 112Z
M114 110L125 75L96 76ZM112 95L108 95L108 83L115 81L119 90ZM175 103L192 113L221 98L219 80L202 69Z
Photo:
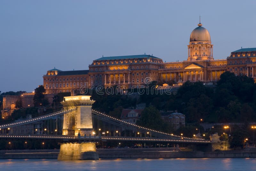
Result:
M44 100L44 93L45 93L45 88L43 85L40 85L39 87L37 87L35 89L35 95L34 95L34 106L35 107L38 107L38 106L45 106L45 105L48 105L47 104L47 101Z

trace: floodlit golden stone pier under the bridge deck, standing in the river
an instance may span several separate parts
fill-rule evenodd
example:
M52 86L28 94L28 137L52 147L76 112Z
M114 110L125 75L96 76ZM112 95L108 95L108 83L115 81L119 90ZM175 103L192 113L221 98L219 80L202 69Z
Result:
M99 160L95 143L61 143L58 160Z

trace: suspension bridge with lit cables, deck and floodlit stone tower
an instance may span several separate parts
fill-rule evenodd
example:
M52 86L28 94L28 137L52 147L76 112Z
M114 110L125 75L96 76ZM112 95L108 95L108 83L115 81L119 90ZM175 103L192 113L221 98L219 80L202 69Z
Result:
M63 110L0 125L0 139L60 140L59 160L97 159L96 142L151 142L208 144L209 140L192 139L122 121L92 109L91 96L64 97ZM27 134L20 133L30 126Z

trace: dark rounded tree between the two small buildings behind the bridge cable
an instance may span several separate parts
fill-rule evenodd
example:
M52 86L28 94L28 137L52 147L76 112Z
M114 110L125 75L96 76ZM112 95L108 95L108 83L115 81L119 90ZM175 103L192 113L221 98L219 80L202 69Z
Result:
M168 131L167 123L164 123L160 112L153 106L149 106L141 112L137 124L154 130Z

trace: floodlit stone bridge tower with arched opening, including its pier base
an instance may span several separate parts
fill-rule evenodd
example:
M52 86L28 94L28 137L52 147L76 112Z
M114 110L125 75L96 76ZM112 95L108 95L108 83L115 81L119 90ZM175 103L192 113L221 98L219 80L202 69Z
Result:
M76 107L76 111L64 114L62 135L73 135L75 141L60 144L58 160L95 160L99 159L94 142L83 142L78 138L92 135L92 104L91 96L64 97L61 102L64 110ZM76 141L77 140L77 141ZM88 141L88 140L87 140Z

